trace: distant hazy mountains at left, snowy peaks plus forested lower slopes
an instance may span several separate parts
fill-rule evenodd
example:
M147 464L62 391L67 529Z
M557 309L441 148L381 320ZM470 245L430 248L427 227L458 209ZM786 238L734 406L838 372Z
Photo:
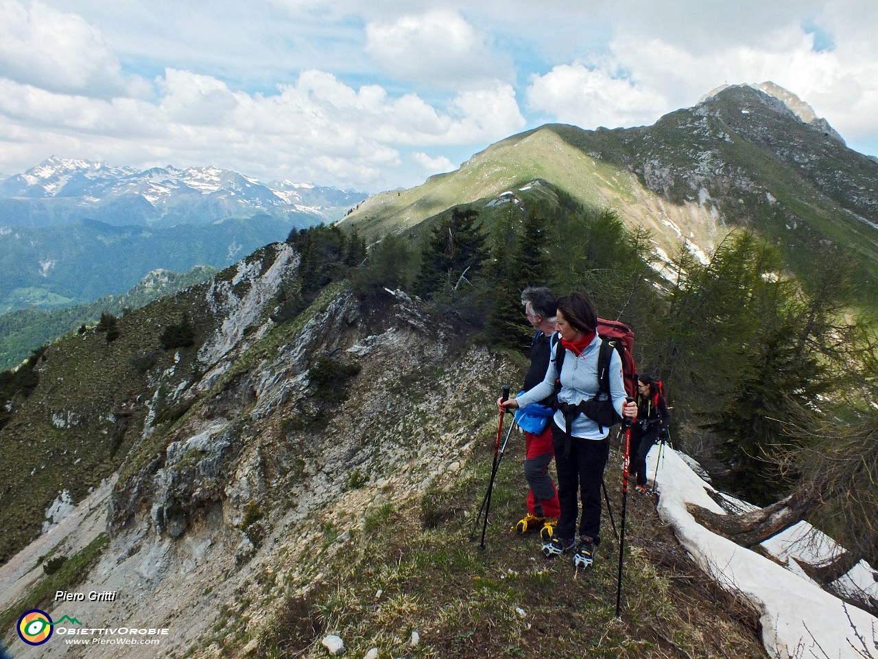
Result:
M0 314L125 293L157 268L222 268L366 197L217 167L52 157L0 181Z

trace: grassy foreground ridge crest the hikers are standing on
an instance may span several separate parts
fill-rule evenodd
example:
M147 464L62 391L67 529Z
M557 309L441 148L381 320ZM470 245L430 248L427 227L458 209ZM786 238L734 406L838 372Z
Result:
M484 551L480 525L469 538L490 475L486 450L448 488L430 489L420 502L367 510L347 550L328 564L315 552L323 577L306 597L297 594L304 584L268 576L266 588L289 594L248 656L322 656L324 634L339 634L355 656L370 648L379 656L462 658L764 656L758 614L700 575L660 524L651 496L628 500L621 620L618 543L606 509L603 541L588 570L574 570L569 556L546 561L535 535L509 532L525 511L519 444L510 445L498 472ZM614 451L607 474L616 525L619 460ZM325 537L331 544L335 534L327 528ZM246 612L227 614L234 625Z

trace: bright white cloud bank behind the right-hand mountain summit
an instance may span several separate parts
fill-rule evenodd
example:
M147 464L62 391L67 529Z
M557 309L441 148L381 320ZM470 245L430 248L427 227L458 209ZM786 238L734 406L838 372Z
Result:
M867 14L878 19L878 9ZM838 18L823 20L817 16L811 25L831 38L828 48L817 47L815 33L790 19L762 25L752 40L718 38L709 45L619 25L606 54L531 76L526 98L530 109L560 121L625 127L694 105L721 83L772 81L810 104L842 136L867 138L878 130L878 46L866 34L851 39L855 30L838 25ZM662 32L661 25L653 27Z

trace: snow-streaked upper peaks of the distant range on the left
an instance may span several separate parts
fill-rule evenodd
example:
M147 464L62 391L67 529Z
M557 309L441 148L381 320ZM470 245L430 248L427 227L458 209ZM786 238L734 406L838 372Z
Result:
M0 224L47 226L86 217L116 225L202 224L258 213L332 221L366 196L289 181L265 185L219 167L140 171L53 156L0 180Z

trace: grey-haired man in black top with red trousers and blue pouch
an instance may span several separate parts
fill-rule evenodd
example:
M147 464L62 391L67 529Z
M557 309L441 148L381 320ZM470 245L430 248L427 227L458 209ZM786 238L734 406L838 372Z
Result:
M543 381L549 367L551 335L555 331L555 296L544 286L530 286L522 291L524 315L536 334L530 342L530 367L522 388L526 391ZM550 417L554 393L515 412L515 420L524 431L524 477L528 481L528 514L515 525L520 533L539 531L543 540L551 540L558 523L558 491L549 473L555 456L551 440Z

